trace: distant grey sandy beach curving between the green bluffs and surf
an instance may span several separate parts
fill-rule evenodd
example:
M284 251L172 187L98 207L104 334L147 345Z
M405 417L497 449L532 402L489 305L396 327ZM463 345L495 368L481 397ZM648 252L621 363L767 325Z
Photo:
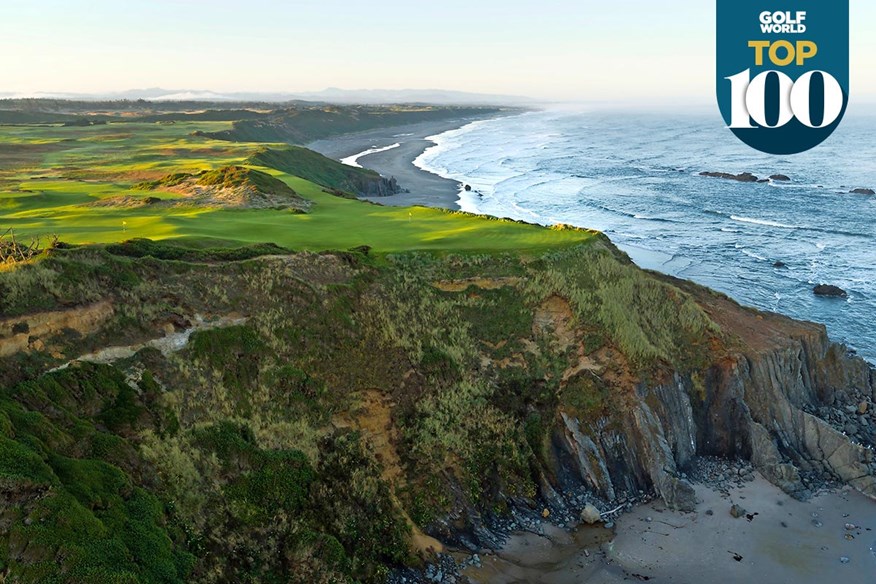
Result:
M335 160L341 160L372 148L399 144L396 148L362 156L357 160L361 166L375 170L385 177L395 177L399 185L408 191L392 197L378 197L371 200L382 205L422 205L457 209L461 185L456 181L421 170L414 166L413 161L426 148L433 145L433 142L426 140L427 137L460 128L477 119L484 118L443 120L382 128L318 140L308 144L307 147Z

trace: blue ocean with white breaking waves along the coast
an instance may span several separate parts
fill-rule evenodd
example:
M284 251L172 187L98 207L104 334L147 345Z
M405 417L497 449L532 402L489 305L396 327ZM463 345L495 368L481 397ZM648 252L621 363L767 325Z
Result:
M533 112L434 136L415 164L472 187L465 211L605 232L643 267L823 323L876 363L876 117L846 117L793 157L738 142L714 114ZM703 171L790 182L740 183ZM821 298L816 284L847 299Z

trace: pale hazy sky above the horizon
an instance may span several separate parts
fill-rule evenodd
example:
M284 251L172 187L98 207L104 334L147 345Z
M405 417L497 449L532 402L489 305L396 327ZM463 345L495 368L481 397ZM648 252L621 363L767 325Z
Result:
M852 92L876 97L876 2ZM441 88L711 99L714 0L2 0L0 92Z

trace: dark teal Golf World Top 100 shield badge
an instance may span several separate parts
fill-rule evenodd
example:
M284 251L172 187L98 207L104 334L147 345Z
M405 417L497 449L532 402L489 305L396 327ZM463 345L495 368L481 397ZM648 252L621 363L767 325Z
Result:
M824 142L849 103L849 0L717 0L717 93L736 136L769 154Z

